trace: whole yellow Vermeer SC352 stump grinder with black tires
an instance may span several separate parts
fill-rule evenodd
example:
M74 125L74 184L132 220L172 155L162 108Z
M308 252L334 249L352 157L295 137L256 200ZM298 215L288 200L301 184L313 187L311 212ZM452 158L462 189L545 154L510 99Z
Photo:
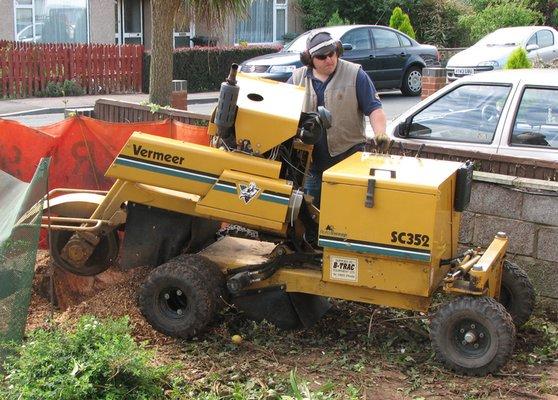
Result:
M468 375L502 367L534 291L505 259L505 233L458 250L472 165L359 152L324 173L315 207L303 185L329 113L301 112L302 88L237 68L210 146L134 133L106 172L108 192L49 192L55 263L81 275L152 266L139 307L176 337L198 335L225 304L297 328L328 298L427 312L445 292L452 300L430 316L437 357Z

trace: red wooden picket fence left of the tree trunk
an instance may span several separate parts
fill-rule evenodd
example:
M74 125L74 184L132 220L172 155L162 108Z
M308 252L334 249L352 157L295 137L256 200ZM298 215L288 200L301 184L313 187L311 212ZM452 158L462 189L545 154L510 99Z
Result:
M0 41L0 98L74 80L87 94L141 92L143 46Z

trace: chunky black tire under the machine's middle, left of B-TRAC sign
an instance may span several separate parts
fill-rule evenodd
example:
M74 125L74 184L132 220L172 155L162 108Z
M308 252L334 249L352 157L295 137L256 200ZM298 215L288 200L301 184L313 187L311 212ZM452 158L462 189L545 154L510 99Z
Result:
M203 257L173 258L155 268L141 285L139 309L159 332L179 338L199 335L218 309L220 276L219 268Z

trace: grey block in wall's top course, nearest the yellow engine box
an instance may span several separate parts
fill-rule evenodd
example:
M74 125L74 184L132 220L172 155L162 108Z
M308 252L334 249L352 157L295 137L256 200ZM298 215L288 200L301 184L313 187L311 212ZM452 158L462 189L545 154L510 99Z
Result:
M505 218L521 217L523 193L489 183L475 182L468 211Z

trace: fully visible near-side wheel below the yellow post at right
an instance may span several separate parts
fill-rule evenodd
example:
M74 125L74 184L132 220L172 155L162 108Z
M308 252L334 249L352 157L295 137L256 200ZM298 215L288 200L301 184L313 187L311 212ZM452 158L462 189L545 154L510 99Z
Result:
M474 333L474 342L465 335ZM458 297L442 306L430 323L436 358L463 375L485 376L510 359L515 326L504 306L490 297ZM478 347L474 347L474 346Z

